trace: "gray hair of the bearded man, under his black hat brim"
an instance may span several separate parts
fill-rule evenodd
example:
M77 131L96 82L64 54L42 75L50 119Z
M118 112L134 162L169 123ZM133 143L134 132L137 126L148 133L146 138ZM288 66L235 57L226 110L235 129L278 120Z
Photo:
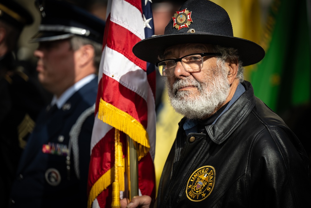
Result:
M239 68L237 77L240 82L244 82L244 67L241 60L239 60L238 50L234 48L227 48L219 45L211 46L211 51L214 53L221 53L221 57L218 57L217 64L224 65L226 62L238 60Z

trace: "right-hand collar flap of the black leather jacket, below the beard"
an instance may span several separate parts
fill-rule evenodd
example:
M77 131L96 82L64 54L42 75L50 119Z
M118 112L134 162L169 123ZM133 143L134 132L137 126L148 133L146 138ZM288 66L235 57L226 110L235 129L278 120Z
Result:
M246 91L214 124L205 127L207 134L216 144L223 143L248 116L256 104L252 85L248 81L244 81L242 84Z

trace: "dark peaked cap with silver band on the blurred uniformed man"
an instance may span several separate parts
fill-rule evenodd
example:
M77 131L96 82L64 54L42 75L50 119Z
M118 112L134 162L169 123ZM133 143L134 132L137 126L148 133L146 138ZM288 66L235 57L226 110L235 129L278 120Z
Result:
M59 0L36 0L36 6L41 12L41 22L30 43L63 40L74 35L103 43L105 22L90 12Z

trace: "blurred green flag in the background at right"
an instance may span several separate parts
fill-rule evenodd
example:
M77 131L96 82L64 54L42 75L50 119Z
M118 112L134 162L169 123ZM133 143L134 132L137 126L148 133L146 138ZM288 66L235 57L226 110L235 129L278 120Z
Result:
M265 58L251 71L255 95L276 113L310 101L309 0L274 0L260 44Z

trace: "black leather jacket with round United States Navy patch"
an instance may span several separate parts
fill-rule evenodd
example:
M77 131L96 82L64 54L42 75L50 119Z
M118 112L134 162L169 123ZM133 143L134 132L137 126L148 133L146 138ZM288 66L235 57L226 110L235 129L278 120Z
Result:
M155 207L311 207L304 148L251 84L243 85L205 133L186 136L181 120Z

